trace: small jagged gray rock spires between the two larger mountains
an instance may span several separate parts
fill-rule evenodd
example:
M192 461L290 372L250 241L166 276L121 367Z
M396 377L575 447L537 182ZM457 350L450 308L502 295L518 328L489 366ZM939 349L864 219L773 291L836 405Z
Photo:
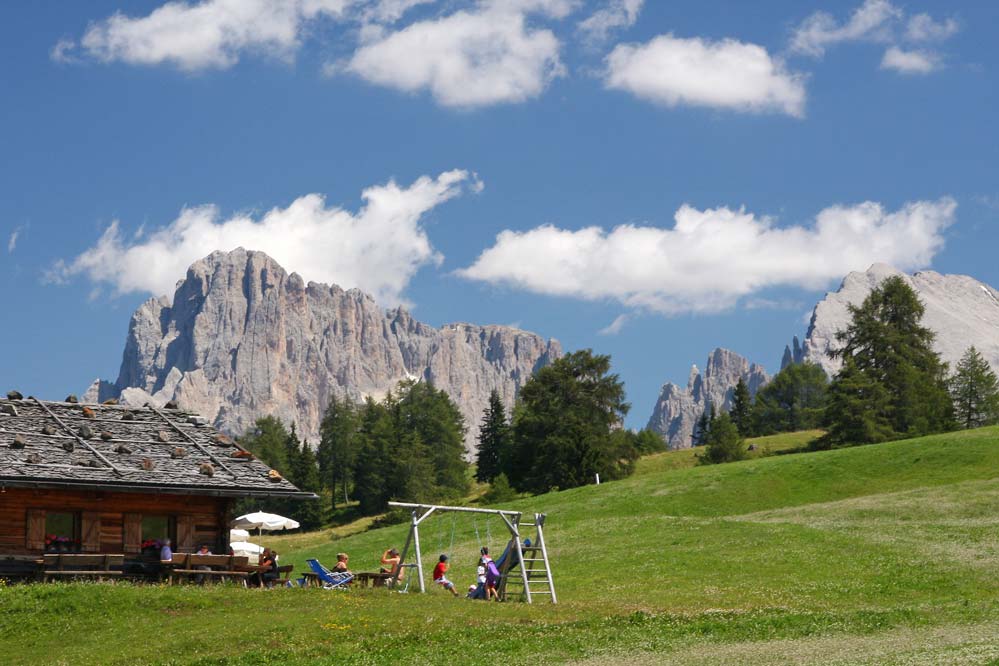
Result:
M704 372L697 366L690 369L687 388L667 383L656 401L648 427L663 436L671 449L691 446L694 425L714 405L719 412L732 407L732 393L739 379L746 382L750 395L755 396L770 381L762 366L750 364L742 356L727 349L715 349L708 356Z

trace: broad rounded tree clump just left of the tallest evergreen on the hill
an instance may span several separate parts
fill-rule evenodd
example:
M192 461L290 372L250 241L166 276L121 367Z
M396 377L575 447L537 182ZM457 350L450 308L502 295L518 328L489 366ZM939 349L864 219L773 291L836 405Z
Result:
M825 371L814 363L785 367L756 394L751 412L752 434L818 428L824 418L828 384Z

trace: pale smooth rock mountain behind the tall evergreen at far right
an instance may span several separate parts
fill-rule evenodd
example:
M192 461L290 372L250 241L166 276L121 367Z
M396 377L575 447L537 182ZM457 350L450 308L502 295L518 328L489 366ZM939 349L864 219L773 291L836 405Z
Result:
M818 363L829 376L842 365L832 358L836 333L850 323L848 305L860 305L885 278L899 275L926 307L923 325L936 333L934 348L951 370L974 345L999 372L999 291L967 275L922 271L908 275L886 264L850 273L839 290L826 295L812 311L803 345L805 360Z

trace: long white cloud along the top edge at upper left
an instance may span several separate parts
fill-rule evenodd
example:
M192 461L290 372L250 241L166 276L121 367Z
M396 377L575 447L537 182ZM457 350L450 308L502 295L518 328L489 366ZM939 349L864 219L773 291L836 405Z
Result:
M91 25L78 48L101 61L226 69L245 52L290 59L305 23L339 16L353 0L202 0L168 2L148 16L116 13ZM77 45L56 44L52 57L73 57Z

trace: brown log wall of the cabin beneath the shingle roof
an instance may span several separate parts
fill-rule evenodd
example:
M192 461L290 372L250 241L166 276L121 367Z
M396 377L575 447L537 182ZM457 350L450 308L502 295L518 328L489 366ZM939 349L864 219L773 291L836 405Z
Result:
M178 552L202 543L224 552L231 503L203 495L6 488L0 493L0 555L42 553L48 512L77 515L83 552L138 554L143 515L172 520Z

